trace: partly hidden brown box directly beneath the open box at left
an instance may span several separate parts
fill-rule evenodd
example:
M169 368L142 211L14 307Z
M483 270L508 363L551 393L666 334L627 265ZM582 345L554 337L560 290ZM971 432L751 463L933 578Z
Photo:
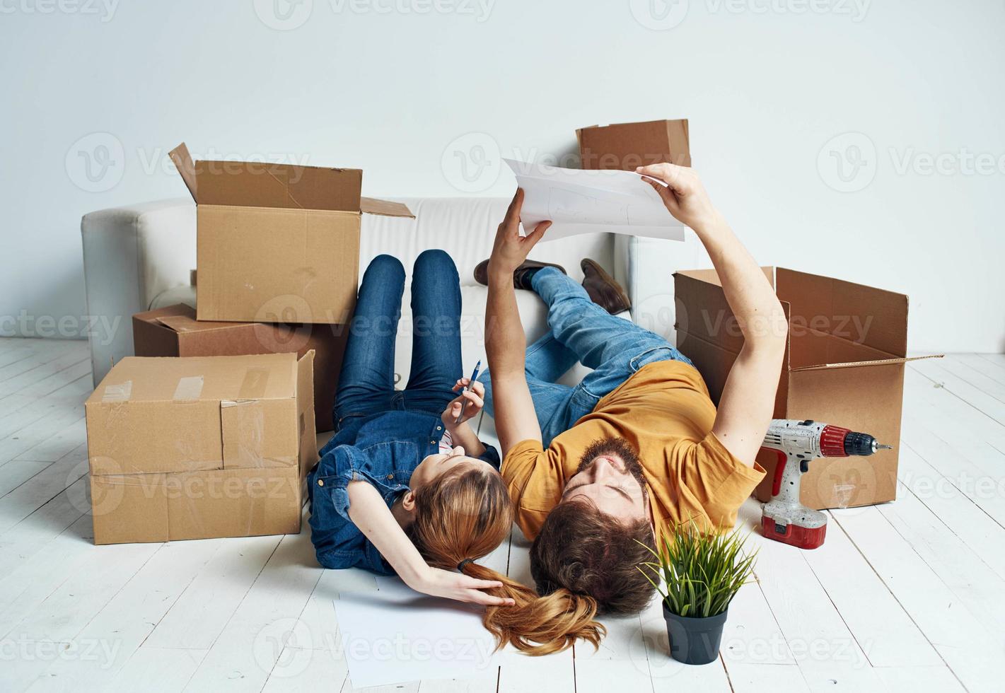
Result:
M339 387L348 324L272 324L196 320L192 307L179 303L133 315L133 346L138 357L229 357L314 351L315 427L332 431L332 406Z

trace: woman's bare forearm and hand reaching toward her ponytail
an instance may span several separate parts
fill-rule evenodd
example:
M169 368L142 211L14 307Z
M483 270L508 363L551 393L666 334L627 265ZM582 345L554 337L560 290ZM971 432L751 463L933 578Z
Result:
M380 493L369 481L350 481L349 517L377 547L405 584L426 595L486 606L512 606L513 600L492 597L482 590L502 587L494 580L475 580L459 572L431 567L391 514Z

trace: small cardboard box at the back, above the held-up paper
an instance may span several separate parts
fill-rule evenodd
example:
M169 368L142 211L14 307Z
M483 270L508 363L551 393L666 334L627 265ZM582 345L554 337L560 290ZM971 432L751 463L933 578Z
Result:
M690 166L687 121L590 126L576 131L584 169L634 171L649 164Z

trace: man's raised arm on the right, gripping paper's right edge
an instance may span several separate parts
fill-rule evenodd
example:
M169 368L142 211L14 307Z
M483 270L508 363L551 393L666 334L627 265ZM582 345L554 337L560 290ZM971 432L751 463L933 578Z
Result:
M670 214L693 229L709 251L743 331L744 345L726 380L713 432L727 450L751 466L775 408L788 329L782 304L757 262L713 206L694 171L672 164L637 171L666 184L649 181Z

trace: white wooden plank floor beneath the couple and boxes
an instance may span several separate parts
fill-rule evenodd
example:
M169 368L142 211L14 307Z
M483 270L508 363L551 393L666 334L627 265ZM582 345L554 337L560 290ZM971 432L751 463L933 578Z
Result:
M318 567L306 523L92 545L90 389L85 343L0 339L0 691L353 690L332 600L373 581ZM898 499L831 512L820 549L754 537L716 663L671 661L653 604L596 653L389 690L1003 690L1005 356L911 365L900 460ZM489 562L530 580L522 537Z

